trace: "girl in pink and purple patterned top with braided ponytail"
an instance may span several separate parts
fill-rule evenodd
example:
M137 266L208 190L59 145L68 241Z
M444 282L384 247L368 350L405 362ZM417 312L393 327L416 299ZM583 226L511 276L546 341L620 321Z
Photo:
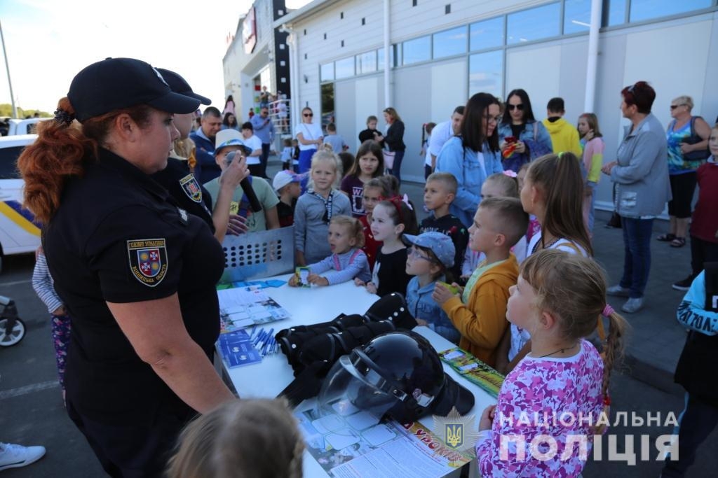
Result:
M623 350L625 320L606 304L602 269L580 254L545 249L531 255L510 293L506 317L531 331L531 352L481 416L480 474L577 477L600 431L595 424L610 405L609 378ZM610 323L605 360L583 339L601 315ZM509 447L505 436L521 440ZM588 452L574 446L576 436Z

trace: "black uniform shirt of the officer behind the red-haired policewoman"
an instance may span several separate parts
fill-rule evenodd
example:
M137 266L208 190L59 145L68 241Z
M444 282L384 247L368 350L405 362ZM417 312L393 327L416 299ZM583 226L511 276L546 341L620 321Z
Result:
M187 161L169 158L167 168L154 173L152 179L162 184L182 209L205 221L214 234L215 223L212 221L210 193L205 186L197 182L195 175L190 173Z

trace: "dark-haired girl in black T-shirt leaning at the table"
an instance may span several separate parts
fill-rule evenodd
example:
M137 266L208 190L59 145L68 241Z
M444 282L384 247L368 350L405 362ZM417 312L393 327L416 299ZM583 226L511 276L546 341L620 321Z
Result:
M406 274L406 246L402 234L416 234L414 206L404 196L385 199L374 206L371 216L371 232L374 239L383 244L376 254L370 282L355 279L357 285L365 286L372 294L383 297L391 292L406 294L409 274Z

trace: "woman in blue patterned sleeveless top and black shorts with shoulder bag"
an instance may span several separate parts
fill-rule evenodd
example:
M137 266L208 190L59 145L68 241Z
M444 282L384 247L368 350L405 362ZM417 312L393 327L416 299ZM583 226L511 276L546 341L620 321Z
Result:
M696 191L696 170L710 156L708 137L711 135L711 127L700 116L691 115L692 109L693 99L690 96L673 99L673 121L666 130L668 175L673 199L668 201L671 226L668 234L661 234L658 240L670 242L672 247L686 245L691 202Z

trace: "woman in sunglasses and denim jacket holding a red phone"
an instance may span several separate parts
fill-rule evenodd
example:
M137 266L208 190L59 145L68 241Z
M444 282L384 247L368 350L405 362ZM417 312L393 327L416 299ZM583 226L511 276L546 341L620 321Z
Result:
M528 93L519 88L511 90L506 100L503 118L498 127L499 148L503 168L518 173L526 163L553 152L551 135L540 121L533 118Z

